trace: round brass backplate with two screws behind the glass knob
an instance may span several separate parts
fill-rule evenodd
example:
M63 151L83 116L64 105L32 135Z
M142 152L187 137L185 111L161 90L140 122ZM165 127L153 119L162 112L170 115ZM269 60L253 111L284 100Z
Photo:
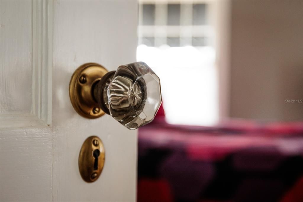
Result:
M105 113L93 99L92 87L108 71L99 64L86 63L75 70L69 82L69 98L78 114L85 118L98 118Z

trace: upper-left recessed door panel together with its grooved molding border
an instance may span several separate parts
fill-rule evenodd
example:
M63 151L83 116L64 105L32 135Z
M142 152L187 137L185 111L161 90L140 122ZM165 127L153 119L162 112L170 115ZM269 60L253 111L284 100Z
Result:
M53 11L48 2L0 1L0 128L52 122Z

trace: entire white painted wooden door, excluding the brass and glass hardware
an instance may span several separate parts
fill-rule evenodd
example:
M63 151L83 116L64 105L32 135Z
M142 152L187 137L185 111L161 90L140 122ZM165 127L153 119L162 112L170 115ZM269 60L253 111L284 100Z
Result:
M136 61L136 1L0 0L0 201L135 201L137 132L85 119L69 99L75 69ZM105 166L82 180L92 135Z

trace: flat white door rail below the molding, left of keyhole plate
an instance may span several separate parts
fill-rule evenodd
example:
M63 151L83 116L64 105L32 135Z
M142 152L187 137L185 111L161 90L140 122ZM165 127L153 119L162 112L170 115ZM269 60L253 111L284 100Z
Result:
M0 130L0 201L52 200L52 129Z

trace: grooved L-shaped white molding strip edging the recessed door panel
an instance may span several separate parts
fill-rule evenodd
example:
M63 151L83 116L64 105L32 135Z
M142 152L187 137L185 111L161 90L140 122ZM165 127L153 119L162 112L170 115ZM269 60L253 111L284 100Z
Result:
M0 129L51 125L52 26L53 1L32 0L32 109L30 113L0 113Z

